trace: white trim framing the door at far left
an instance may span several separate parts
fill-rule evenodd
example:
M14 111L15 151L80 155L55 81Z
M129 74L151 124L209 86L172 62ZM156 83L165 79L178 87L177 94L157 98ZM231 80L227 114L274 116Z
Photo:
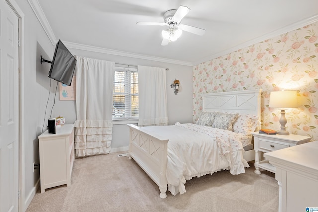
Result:
M15 0L5 0L19 18L19 212L25 212L25 164L24 164L24 13ZM30 200L31 201L31 200Z

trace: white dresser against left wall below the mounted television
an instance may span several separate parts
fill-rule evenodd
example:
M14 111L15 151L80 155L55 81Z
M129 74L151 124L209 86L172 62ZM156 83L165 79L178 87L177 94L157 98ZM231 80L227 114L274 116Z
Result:
M56 134L45 131L39 138L41 193L46 188L71 185L74 162L74 124L56 128Z

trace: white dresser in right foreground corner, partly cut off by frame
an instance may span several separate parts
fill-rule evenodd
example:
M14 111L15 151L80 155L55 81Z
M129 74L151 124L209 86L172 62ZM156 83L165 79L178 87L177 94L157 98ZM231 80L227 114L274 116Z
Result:
M279 212L318 208L318 141L264 154L276 167Z

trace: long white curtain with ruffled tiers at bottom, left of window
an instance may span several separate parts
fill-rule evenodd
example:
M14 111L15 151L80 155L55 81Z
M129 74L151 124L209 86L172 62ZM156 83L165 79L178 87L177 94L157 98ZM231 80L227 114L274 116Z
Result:
M75 156L110 152L114 62L78 57Z

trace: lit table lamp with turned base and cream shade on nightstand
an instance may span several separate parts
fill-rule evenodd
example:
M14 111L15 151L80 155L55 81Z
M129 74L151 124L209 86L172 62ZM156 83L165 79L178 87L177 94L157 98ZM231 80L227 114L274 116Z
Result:
M279 108L281 110L281 117L279 120L281 127L280 130L277 131L277 134L289 135L289 132L286 131L285 127L287 123L285 109L298 107L296 90L272 91L269 98L269 107Z

